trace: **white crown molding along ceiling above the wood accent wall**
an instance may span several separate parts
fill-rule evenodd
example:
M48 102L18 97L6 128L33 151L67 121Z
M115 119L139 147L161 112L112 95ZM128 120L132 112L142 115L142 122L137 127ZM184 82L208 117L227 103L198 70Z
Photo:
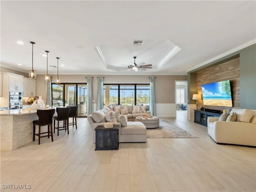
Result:
M236 51L239 51L239 50L241 50L241 49L244 49L244 48L246 48L246 47L249 47L250 45L253 45L253 44L255 44L255 43L256 43L256 39L252 39L251 41L248 41L248 42L246 42L246 43L244 43L244 44L242 44L242 45L239 45L238 47L235 47L235 48L233 48L233 49L230 49L229 51L226 51L225 53L222 53L222 54L220 54L220 55L217 55L216 57L213 57L212 59L208 59L207 61L204 61L203 63L200 63L199 65L196 65L195 67L192 67L192 68L188 69L187 72L192 71L192 70L194 70L194 69L197 69L197 68L199 68L199 67L202 67L202 66L204 66L204 65L206 65L206 64L208 64L208 63L211 63L211 62L213 62L213 61L216 61L216 60L218 60L218 59L221 59L222 57L225 57L225 56L230 55L230 54L232 54L232 53L234 53L234 52L236 52Z

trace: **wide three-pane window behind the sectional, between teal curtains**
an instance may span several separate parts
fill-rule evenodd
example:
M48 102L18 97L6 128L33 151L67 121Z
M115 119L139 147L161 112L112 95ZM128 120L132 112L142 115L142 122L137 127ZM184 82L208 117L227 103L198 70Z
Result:
M148 105L149 84L104 84L104 106Z

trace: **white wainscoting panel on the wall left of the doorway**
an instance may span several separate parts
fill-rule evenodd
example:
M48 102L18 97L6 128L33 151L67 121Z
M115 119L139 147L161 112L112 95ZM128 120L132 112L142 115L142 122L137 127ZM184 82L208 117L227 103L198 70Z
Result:
M174 103L156 103L156 116L158 117L176 117L176 104Z

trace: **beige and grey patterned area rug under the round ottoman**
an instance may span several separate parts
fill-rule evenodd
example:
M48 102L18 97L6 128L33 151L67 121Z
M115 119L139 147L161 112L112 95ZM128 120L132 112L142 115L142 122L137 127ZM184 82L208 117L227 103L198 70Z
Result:
M147 129L147 138L198 138L192 133L176 125L160 120L160 125L155 129Z

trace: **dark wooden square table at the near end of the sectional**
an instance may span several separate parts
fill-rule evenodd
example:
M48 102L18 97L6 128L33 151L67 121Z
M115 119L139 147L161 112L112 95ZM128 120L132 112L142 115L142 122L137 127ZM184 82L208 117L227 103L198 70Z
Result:
M98 125L94 129L96 133L95 151L118 150L118 129L119 125L113 125L113 128Z

